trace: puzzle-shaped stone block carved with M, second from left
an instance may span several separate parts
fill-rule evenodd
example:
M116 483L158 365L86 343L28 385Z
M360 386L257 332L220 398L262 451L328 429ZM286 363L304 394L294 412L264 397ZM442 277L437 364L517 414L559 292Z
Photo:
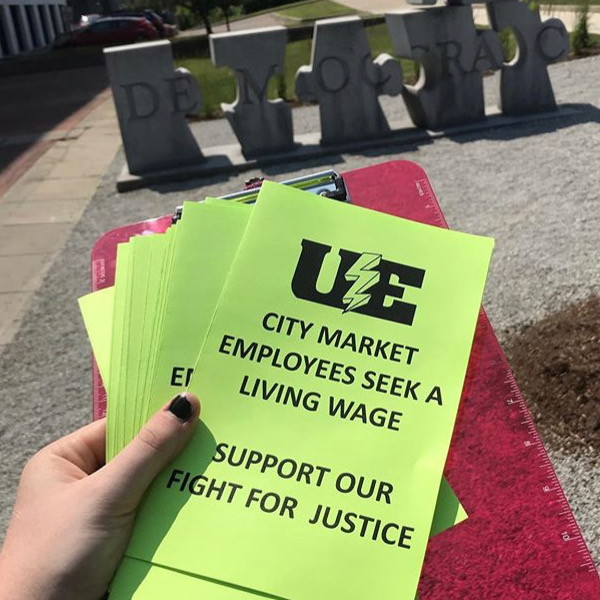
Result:
M230 67L237 98L222 104L244 156L272 154L294 147L292 112L282 99L268 99L269 80L283 74L285 27L211 35L210 55L217 67Z

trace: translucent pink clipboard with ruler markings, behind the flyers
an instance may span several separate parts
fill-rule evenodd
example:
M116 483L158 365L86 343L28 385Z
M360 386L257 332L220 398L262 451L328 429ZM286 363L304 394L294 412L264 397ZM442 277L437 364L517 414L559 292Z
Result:
M407 161L342 173L351 202L447 227L425 172ZM172 215L104 234L92 289L114 283L117 245ZM93 365L94 418L106 392ZM429 544L421 600L598 600L600 579L506 357L482 310L445 475L469 518Z

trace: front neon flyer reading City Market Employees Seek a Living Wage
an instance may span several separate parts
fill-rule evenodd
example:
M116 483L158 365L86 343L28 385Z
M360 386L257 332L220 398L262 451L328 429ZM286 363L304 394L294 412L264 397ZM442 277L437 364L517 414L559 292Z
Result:
M266 182L192 381L202 423L128 555L412 600L492 246Z

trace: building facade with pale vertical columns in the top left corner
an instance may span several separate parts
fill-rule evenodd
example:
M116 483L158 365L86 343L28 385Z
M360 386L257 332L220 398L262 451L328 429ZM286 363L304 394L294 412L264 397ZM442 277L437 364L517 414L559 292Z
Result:
M49 46L67 29L65 0L0 0L0 58Z

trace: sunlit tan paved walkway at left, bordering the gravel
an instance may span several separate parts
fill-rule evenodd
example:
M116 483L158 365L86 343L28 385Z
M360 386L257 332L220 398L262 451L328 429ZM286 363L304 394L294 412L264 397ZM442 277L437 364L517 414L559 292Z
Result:
M77 122L82 113L89 114ZM0 352L121 144L107 93L72 115L66 129L31 135L36 143L0 177Z

